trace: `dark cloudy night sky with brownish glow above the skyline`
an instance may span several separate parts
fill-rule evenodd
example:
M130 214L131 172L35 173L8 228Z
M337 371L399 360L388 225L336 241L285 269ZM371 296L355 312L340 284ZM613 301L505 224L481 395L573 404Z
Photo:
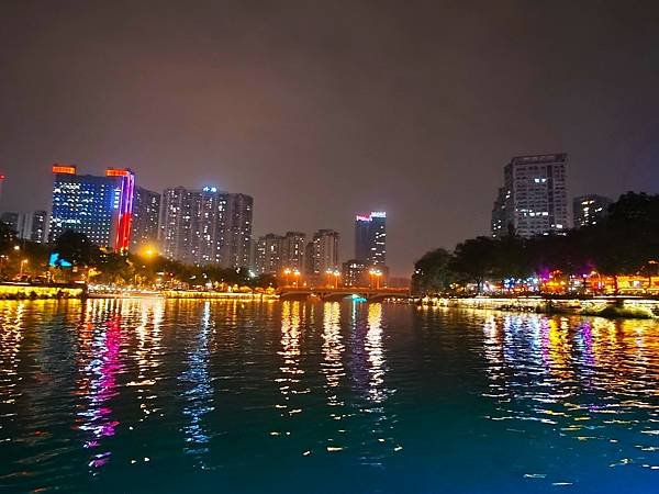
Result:
M255 234L388 212L394 273L489 232L502 167L659 191L659 7L619 1L0 3L2 210L54 161L255 197Z

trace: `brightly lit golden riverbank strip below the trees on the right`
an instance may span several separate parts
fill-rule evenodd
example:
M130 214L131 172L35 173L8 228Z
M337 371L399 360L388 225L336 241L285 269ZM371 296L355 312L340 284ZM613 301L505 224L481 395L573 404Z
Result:
M424 297L420 305L483 308L489 311L537 312L545 314L576 314L601 317L659 318L659 301L633 297L549 299L521 297Z

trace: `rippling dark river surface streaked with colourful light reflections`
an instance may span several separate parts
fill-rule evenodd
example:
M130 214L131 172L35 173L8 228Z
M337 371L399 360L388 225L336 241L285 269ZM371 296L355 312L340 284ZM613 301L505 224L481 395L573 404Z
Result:
M0 302L0 490L659 492L659 323Z

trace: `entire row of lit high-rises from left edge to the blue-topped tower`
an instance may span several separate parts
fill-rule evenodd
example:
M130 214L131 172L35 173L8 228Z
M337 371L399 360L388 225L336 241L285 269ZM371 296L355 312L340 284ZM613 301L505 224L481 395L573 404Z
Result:
M80 175L74 165L53 165L52 211L5 212L0 221L19 238L54 242L64 232L85 234L116 252L157 252L188 265L248 268L290 283L384 285L388 279L387 214L355 220L354 258L340 262L340 236L319 229L253 237L254 199L216 187L176 187L161 193L137 186L129 168ZM1 186L1 180L0 180Z

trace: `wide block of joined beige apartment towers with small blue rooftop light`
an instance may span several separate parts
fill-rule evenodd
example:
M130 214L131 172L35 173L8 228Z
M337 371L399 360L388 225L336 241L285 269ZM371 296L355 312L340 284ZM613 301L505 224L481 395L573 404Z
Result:
M252 197L205 187L163 193L160 248L186 263L241 268L249 265Z

